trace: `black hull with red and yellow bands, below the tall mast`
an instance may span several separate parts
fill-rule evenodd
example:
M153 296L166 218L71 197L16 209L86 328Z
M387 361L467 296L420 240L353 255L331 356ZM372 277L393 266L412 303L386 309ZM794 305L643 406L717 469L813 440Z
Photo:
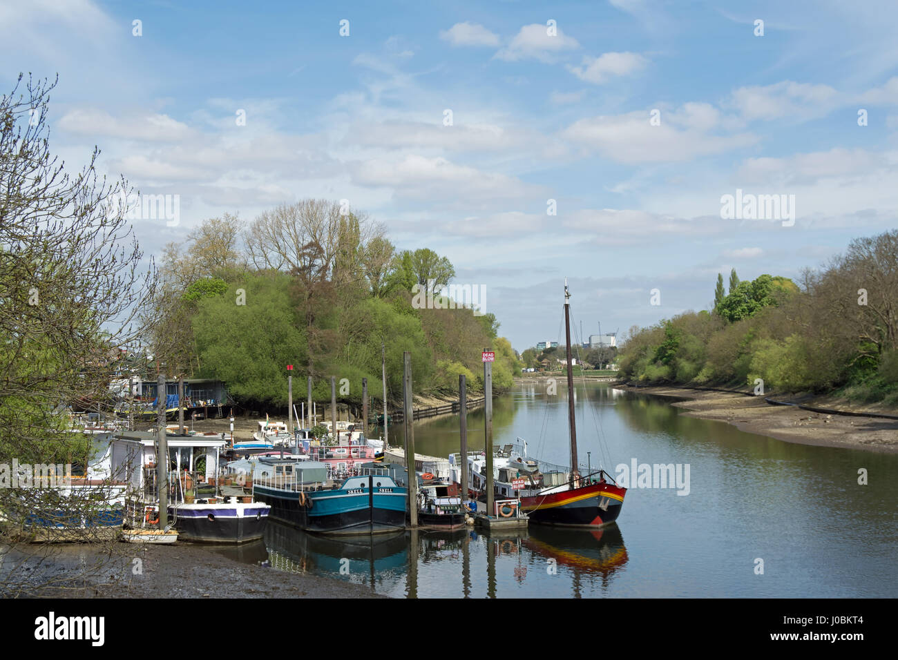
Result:
M521 497L521 508L532 523L598 528L617 520L626 493L608 483L589 484Z

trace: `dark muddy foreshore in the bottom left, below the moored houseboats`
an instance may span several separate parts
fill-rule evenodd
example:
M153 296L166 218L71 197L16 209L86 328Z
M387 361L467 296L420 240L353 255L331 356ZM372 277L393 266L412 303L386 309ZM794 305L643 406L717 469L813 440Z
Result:
M244 564L207 547L130 543L0 546L0 594L38 598L383 598L337 578ZM14 571L17 588L4 584Z

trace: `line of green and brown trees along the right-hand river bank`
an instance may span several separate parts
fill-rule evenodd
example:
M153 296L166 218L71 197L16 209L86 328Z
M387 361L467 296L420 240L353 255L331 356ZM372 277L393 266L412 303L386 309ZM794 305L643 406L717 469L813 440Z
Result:
M854 239L797 282L761 275L710 311L633 327L621 376L642 383L718 384L767 392L834 392L898 404L898 231ZM760 379L760 381L759 381Z

